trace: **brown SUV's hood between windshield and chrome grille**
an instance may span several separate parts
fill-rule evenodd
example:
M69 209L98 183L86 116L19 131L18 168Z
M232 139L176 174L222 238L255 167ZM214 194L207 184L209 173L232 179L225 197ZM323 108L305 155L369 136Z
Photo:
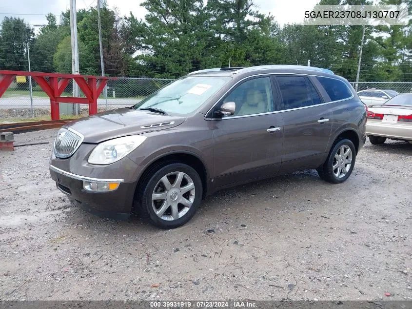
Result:
M146 110L120 108L81 118L64 125L64 127L70 127L81 133L84 136L83 143L97 144L125 135L172 128L182 124L185 120L186 118L179 116L167 116ZM163 125L160 126L160 124Z

